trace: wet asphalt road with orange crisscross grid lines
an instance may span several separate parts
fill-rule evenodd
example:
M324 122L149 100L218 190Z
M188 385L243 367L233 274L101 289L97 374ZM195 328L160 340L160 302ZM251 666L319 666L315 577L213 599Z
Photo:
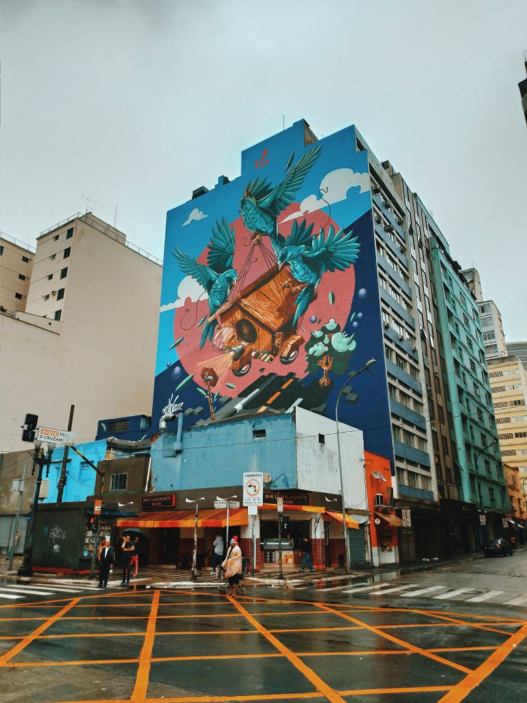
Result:
M526 565L519 553L238 600L20 593L0 605L2 701L525 703L527 607L503 599L520 597Z

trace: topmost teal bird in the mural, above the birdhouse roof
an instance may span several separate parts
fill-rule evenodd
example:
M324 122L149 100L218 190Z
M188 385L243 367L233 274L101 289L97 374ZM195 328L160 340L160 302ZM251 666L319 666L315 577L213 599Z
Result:
M275 188L266 178L255 178L247 183L240 200L243 222L251 233L252 240L259 241L263 235L270 237L277 256L285 242L278 234L278 215L293 202L321 150L321 146L315 146L301 155L297 165L289 169L285 179Z

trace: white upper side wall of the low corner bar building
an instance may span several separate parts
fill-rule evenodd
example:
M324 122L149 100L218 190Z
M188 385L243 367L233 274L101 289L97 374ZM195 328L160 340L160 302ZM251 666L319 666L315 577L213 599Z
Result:
M340 494L339 455L334 420L295 408L298 487L304 491ZM318 435L324 437L320 444ZM339 423L344 499L347 508L367 510L363 433ZM330 508L330 504L327 505ZM335 505L336 510L340 506Z

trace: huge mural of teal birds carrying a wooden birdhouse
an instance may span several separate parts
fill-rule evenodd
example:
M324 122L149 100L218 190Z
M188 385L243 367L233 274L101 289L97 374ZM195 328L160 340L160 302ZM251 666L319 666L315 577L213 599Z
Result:
M333 416L354 359L384 363L367 157L299 144L299 124L167 214L154 423L174 408L191 424L241 408Z

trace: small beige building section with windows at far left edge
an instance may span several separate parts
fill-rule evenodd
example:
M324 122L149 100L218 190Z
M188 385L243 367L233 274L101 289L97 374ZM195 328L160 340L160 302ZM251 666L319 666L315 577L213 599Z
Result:
M0 305L6 310L25 310L33 259L33 247L0 233Z

